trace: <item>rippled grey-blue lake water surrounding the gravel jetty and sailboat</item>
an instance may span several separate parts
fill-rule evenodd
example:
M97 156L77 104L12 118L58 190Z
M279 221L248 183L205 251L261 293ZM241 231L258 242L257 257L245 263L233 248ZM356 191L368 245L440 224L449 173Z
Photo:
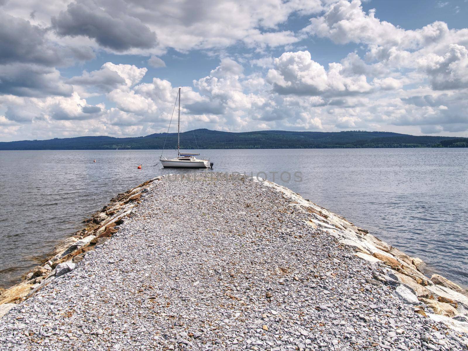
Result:
M154 166L160 152L0 151L0 286L16 283L117 193L174 173ZM286 183L279 173L275 181L468 285L468 149L205 150L202 156L214 162L213 172L266 172L269 180L269 172L302 172L300 182Z

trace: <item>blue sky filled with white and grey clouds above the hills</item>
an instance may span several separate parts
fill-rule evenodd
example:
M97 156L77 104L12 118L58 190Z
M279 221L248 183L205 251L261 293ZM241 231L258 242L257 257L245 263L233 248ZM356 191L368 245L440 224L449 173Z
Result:
M468 1L0 1L0 141L184 130L468 136Z

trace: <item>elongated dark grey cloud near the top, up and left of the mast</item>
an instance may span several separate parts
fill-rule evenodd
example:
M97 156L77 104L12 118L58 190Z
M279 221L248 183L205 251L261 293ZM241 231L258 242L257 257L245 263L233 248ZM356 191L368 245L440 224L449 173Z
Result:
M51 22L59 36L88 36L116 51L149 49L157 44L156 34L139 19L104 11L92 1L69 4Z

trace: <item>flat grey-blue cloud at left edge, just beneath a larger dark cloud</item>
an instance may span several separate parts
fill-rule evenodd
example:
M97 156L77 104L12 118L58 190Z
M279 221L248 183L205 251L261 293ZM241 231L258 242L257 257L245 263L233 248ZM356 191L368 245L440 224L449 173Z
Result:
M47 97L69 96L73 87L64 84L55 68L34 64L0 65L0 94Z

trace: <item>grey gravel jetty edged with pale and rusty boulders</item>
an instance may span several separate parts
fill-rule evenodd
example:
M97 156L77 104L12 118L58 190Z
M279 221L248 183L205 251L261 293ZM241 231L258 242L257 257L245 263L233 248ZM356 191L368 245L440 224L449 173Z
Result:
M466 290L269 181L158 177L64 243L0 350L468 350Z

